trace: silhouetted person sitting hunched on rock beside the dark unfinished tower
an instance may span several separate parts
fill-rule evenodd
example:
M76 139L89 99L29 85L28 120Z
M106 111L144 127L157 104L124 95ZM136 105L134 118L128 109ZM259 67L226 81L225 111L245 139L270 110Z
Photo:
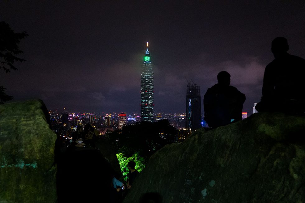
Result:
M209 127L216 128L242 120L242 105L246 96L230 85L230 77L226 71L219 72L218 84L209 88L204 95L204 120Z

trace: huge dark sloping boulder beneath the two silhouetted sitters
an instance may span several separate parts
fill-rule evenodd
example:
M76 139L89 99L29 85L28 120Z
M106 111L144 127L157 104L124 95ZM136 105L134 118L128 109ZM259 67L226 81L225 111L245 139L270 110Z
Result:
M305 202L305 118L256 113L196 131L149 160L124 202Z

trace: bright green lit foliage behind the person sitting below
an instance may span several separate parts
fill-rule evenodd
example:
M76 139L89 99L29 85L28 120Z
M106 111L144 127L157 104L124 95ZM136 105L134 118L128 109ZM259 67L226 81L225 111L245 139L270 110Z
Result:
M135 153L131 157L126 157L126 156L124 156L123 153L116 154L116 156L119 160L121 171L122 171L125 182L127 182L127 180L128 180L129 169L127 168L127 164L129 161L134 161L136 163L135 169L138 172L141 172L143 170L143 168L145 168L145 160L143 157L139 156L138 153Z

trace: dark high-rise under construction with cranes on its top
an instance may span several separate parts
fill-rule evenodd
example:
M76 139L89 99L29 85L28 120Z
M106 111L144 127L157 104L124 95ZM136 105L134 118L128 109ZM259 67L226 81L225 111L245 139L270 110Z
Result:
M186 88L185 127L192 132L201 128L201 98L200 87L190 83Z

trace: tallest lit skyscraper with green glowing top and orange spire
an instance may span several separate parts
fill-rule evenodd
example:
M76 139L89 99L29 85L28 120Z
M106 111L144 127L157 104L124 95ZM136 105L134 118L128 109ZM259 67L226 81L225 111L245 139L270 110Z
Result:
M153 65L148 42L141 73L141 121L153 122Z

